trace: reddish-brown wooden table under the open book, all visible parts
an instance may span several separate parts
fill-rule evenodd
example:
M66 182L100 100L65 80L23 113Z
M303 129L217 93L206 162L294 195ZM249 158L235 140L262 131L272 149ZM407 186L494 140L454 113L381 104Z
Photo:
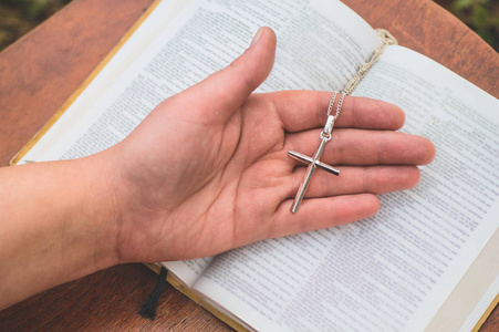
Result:
M33 136L153 0L74 0L0 53L0 166ZM499 97L499 55L428 0L345 0L374 28ZM118 266L0 312L0 331L228 331L167 286L155 321L137 310L156 281L142 264ZM33 281L37 282L37 281ZM480 331L499 331L499 309Z

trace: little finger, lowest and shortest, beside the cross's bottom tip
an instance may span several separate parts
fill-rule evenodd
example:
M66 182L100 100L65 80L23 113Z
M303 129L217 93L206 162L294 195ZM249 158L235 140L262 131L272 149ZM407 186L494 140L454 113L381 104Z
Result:
M277 209L268 237L282 237L314 229L339 226L376 214L380 199L372 194L304 199L300 209L291 214L292 200Z

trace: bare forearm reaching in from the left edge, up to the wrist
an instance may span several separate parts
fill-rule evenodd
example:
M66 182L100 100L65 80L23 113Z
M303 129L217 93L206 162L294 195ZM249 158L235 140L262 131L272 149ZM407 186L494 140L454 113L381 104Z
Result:
M94 156L0 169L0 309L116 263L103 163Z

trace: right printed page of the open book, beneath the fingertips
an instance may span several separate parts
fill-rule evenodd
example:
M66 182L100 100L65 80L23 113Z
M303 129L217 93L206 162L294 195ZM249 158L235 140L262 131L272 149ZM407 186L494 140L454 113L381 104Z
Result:
M423 331L498 230L498 100L399 46L354 94L402 106L403 131L429 137L436 159L370 219L217 257L195 288L257 330ZM480 271L477 301L497 267Z

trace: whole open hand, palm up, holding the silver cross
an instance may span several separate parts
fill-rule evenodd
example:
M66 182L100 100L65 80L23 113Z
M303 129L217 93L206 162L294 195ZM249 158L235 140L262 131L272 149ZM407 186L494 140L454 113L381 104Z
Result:
M331 92L251 94L273 64L270 29L230 66L156 107L105 152L114 193L117 261L179 260L215 255L270 237L374 215L375 195L407 189L429 163L433 144L395 132L396 106L346 97L321 158L339 177L315 172L299 211L293 197L313 155Z

